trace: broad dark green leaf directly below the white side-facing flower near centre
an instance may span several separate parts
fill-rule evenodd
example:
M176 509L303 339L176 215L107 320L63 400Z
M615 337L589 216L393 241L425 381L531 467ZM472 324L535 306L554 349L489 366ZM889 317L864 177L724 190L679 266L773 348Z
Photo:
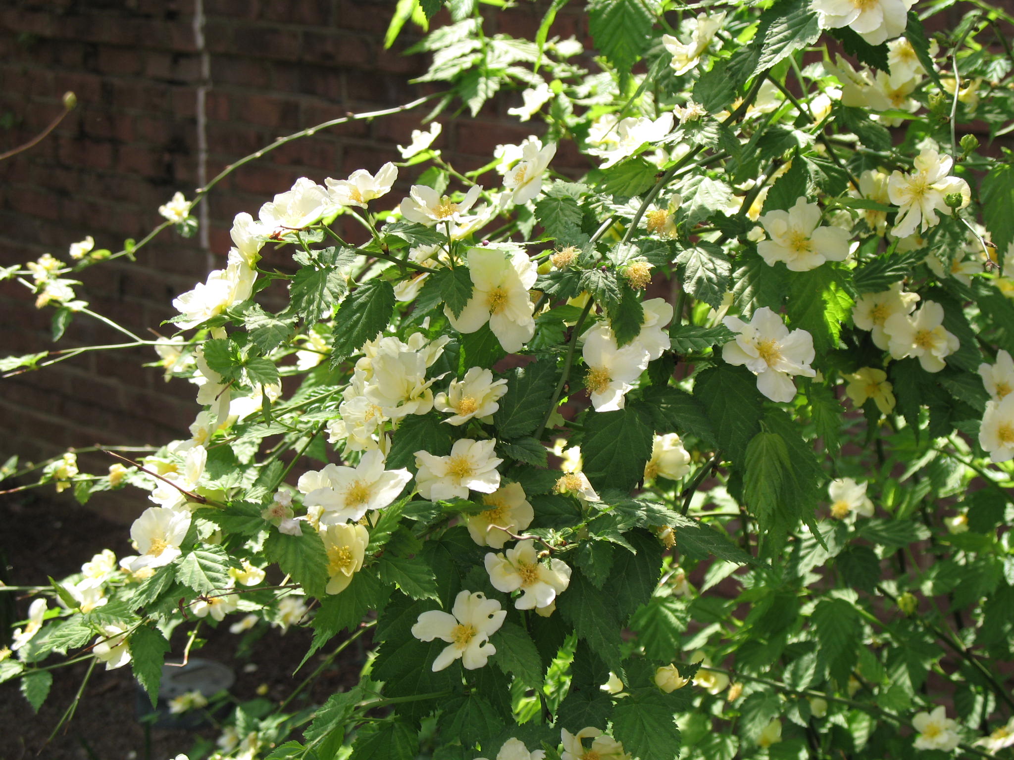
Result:
M615 411L590 411L584 426L584 473L593 487L626 490L644 477L653 438L640 408L631 404Z

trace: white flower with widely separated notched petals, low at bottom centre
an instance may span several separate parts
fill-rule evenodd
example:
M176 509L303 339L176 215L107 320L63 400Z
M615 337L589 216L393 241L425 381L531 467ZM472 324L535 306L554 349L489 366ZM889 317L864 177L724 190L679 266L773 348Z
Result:
M439 638L450 644L433 661L434 673L458 658L465 670L476 670L496 654L490 636L500 629L505 617L507 612L500 608L500 602L487 599L482 592L461 591L451 614L439 610L422 613L412 626L412 635L422 641Z

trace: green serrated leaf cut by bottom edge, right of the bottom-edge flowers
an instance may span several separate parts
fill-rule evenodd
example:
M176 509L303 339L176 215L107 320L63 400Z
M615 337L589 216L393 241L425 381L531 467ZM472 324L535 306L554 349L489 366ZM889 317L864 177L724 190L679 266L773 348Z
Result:
M674 692L675 693L675 692ZM612 735L641 760L676 760L680 736L672 706L654 687L633 689L612 713Z

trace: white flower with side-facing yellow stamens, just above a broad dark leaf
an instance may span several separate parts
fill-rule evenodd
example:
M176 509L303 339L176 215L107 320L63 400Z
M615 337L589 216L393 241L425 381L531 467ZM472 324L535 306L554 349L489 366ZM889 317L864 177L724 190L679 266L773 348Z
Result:
M627 392L647 369L650 357L637 340L618 349L615 336L604 322L585 333L581 356L588 366L584 385L595 411L624 408Z

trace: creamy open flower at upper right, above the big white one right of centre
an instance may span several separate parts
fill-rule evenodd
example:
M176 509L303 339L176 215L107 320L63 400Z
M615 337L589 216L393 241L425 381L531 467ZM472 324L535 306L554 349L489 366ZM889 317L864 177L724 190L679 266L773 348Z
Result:
M849 255L849 233L841 227L820 227L820 207L806 203L803 196L788 211L771 211L759 222L771 239L757 243L757 253L771 267L785 261L790 272L808 272Z

